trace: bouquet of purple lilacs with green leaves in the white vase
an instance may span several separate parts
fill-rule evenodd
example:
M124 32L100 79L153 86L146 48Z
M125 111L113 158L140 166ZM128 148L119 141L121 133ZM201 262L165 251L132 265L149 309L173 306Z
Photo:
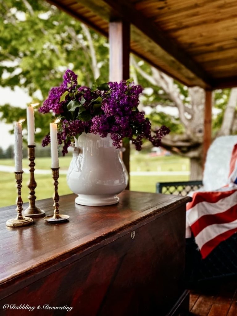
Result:
M58 124L58 143L64 143L63 155L74 137L82 132L110 137L116 148L126 137L137 150L141 150L143 139L153 146L160 146L161 138L169 133L166 126L151 130L149 119L137 108L142 87L131 81L108 82L92 88L77 84L77 75L67 70L63 83L50 90L48 99L40 108L41 113L54 112L61 120ZM50 143L46 135L42 145Z

